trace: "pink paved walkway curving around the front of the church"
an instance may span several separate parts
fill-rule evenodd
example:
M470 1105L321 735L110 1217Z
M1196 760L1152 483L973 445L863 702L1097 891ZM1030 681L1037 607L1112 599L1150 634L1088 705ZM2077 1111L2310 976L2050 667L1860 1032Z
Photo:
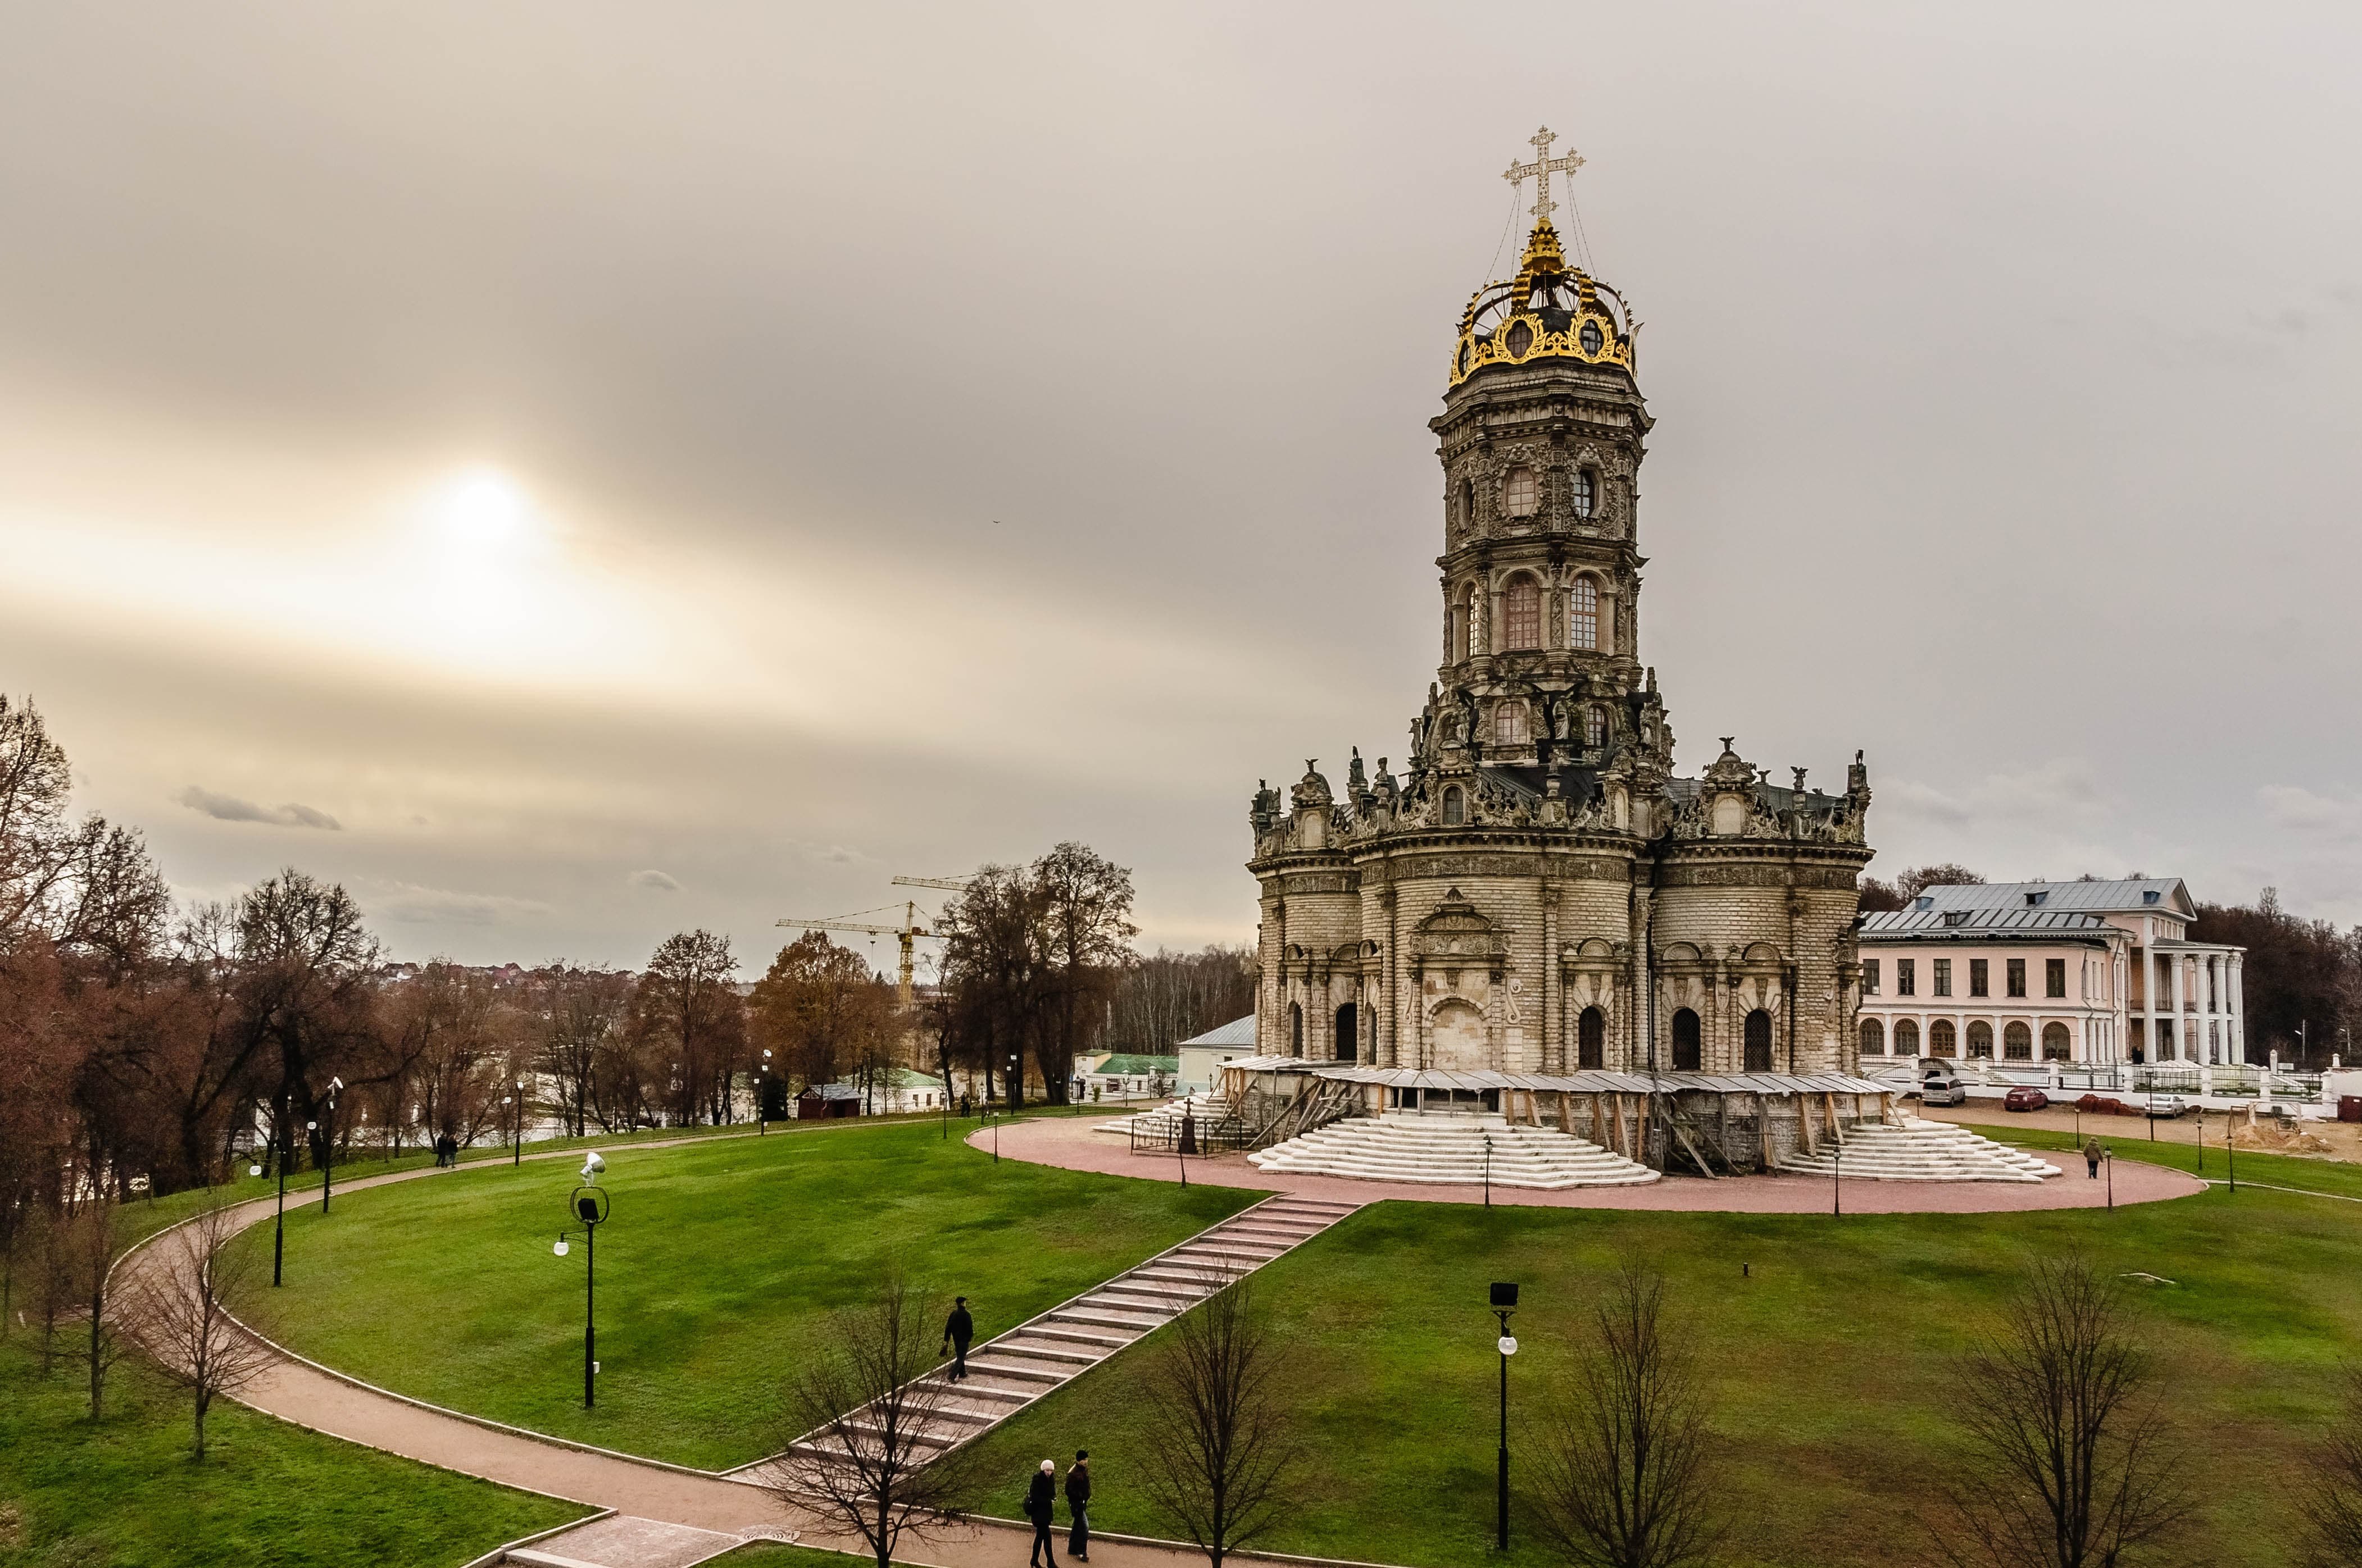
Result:
M1046 1122L1004 1122L1001 1159L1056 1164L1068 1171L1103 1171L1108 1176L1146 1176L1181 1181L1179 1155L1134 1155L1122 1138L1094 1133L1094 1122L1058 1117ZM992 1131L968 1133L973 1148L992 1148ZM2015 1209L2093 1209L2107 1204L2107 1181L2086 1181L2074 1155L2048 1155L2064 1176L2041 1185L2020 1181L1847 1181L1847 1214L2008 1214ZM2071 1167L2071 1169L2069 1169ZM1188 1178L1212 1188L1254 1188L1259 1193L1301 1193L1304 1197L1342 1197L1379 1202L1386 1197L1429 1204L1481 1204L1483 1188L1429 1188L1408 1181L1351 1181L1346 1176L1299 1176L1264 1171L1245 1155L1200 1155L1188 1162ZM1828 1214L1831 1183L1819 1176L1668 1176L1644 1188L1566 1188L1533 1193L1493 1188L1495 1204L1535 1209L1689 1209L1717 1214ZM2149 1204L2166 1197L2204 1193L2206 1183L2180 1171L2133 1159L2116 1162L2116 1202Z

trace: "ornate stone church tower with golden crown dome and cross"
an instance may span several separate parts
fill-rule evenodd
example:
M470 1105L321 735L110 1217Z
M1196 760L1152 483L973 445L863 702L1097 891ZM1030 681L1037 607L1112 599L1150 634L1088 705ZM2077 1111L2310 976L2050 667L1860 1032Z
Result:
M1571 264L1533 163L1516 276L1460 312L1443 411L1441 666L1403 772L1353 751L1254 793L1257 1051L1564 1074L1854 1072L1861 753L1845 791L1722 741L1672 772L1642 664L1637 321Z

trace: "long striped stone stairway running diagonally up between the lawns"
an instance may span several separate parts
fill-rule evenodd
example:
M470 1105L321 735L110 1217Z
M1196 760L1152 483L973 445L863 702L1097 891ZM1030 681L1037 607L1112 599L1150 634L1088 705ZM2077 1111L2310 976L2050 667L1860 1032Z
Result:
M971 1346L966 1379L952 1381L942 1372L921 1379L931 1407L919 1429L919 1450L935 1457L959 1448L1134 1339L1172 1322L1231 1280L1320 1235L1358 1207L1290 1193L1266 1197L999 1339ZM876 1433L876 1426L860 1415L850 1424L862 1433ZM839 1436L822 1429L789 1443L784 1455L730 1474L763 1481L779 1469L794 1469L798 1459L829 1464L843 1462L843 1455Z

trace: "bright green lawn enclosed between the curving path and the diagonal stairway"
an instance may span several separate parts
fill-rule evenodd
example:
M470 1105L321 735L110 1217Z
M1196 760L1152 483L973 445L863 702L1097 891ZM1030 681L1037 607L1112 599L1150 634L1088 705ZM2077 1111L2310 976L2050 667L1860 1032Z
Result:
M262 1311L283 1344L387 1389L723 1469L777 1448L782 1379L888 1261L971 1296L990 1337L1257 1200L994 1164L952 1131L831 1124L612 1155L595 1412L583 1247L550 1254L572 1162L354 1190L328 1219L291 1209L288 1285ZM269 1226L239 1244L267 1252Z

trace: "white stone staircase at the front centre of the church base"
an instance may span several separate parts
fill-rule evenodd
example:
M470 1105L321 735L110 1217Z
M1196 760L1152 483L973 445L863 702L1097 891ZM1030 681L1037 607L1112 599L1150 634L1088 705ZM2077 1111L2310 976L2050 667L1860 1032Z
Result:
M1297 1176L1481 1185L1488 1143L1498 1188L1632 1188L1658 1181L1649 1167L1549 1126L1417 1112L1346 1117L1247 1159Z

